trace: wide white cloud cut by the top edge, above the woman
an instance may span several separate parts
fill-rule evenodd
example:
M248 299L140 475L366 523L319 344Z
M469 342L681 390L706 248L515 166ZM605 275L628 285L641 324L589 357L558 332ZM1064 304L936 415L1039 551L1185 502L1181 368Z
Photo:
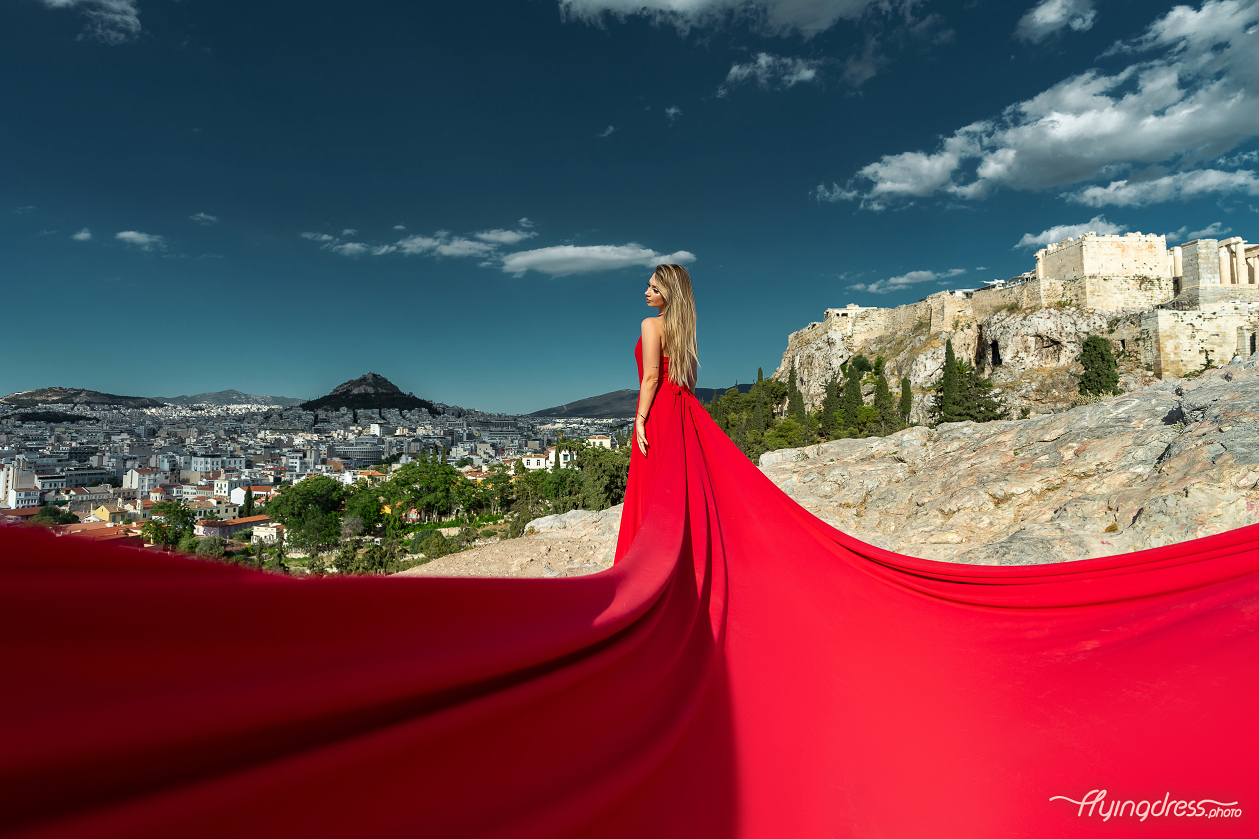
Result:
M624 19L642 15L686 31L691 26L747 21L769 35L801 34L811 38L838 20L860 18L866 9L905 8L910 0L559 0L565 20L599 25L604 15Z

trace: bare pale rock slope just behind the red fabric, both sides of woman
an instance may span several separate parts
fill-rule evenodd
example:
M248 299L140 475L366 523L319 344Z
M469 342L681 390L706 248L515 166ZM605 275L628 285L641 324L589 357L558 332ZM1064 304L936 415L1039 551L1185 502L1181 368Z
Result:
M841 530L928 559L1035 564L1211 535L1259 522L1259 355L1061 413L773 451L762 470ZM594 573L618 514L548 517L410 573Z

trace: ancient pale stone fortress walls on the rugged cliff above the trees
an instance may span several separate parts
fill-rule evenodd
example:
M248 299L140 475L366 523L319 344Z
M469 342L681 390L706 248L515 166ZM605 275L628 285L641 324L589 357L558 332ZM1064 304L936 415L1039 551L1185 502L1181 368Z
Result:
M1036 253L1032 271L983 288L940 291L883 309L849 304L792 333L774 378L794 368L816 407L826 383L857 353L908 375L915 420L939 375L944 341L992 375L1007 404L1068 407L1076 359L1104 335L1127 388L1226 364L1259 349L1259 244L1240 237L1167 248L1162 236L1085 233Z

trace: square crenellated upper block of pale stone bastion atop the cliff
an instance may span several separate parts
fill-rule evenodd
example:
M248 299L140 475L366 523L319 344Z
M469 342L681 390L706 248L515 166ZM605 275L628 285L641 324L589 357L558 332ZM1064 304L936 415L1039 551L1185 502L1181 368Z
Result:
M1041 280L1074 280L1087 276L1171 277L1167 239L1162 236L1085 233L1036 252L1036 276Z

